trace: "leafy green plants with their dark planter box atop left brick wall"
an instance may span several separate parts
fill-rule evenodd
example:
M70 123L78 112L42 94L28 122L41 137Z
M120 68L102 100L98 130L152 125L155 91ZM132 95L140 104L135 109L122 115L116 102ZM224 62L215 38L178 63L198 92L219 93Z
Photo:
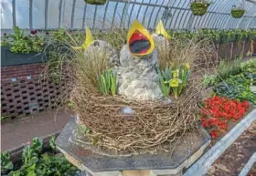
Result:
M37 30L25 36L24 30L14 27L14 34L4 34L1 41L1 66L16 66L46 61L42 53L44 40L37 36Z

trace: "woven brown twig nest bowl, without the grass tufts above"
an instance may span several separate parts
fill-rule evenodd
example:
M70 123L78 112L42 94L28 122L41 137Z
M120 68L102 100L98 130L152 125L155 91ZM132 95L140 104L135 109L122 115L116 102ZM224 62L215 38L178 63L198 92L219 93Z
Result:
M119 154L170 151L177 140L197 129L198 85L190 80L181 97L172 98L171 103L102 97L86 85L76 85L71 97L80 122L91 129L87 138L101 150ZM134 114L123 114L123 107L132 108Z

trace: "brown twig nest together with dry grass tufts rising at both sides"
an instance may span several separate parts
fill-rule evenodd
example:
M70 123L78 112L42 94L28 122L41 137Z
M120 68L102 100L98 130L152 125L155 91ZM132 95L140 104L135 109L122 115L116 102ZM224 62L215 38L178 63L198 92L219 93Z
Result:
M85 135L94 145L93 149L118 155L172 151L187 133L197 129L202 89L198 75L204 69L201 63L209 58L211 50L203 42L182 39L172 42L176 45L173 44L171 50L159 50L159 65L189 63L192 75L180 97L171 98L171 103L137 101L120 95L101 96L97 78L107 68L107 51L86 55L83 51L74 52L73 59L67 63L69 80L65 89L70 90L72 108L80 124L91 129L86 130ZM133 109L133 114L123 114L123 108Z

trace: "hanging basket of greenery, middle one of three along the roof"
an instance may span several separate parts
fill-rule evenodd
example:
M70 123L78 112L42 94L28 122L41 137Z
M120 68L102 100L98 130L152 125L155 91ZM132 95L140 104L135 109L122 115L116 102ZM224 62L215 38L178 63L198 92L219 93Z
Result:
M195 0L190 4L194 16L204 16L208 11L210 3L207 0Z

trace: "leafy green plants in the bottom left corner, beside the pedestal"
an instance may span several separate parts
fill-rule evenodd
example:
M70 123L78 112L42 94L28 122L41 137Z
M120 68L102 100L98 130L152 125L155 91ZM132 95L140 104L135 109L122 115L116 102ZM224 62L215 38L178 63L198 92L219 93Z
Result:
M1 175L78 176L78 169L70 164L62 154L57 153L54 138L50 140L50 146L51 150L43 152L43 141L41 139L35 138L28 142L22 152L21 166L12 163L8 152L1 153Z

